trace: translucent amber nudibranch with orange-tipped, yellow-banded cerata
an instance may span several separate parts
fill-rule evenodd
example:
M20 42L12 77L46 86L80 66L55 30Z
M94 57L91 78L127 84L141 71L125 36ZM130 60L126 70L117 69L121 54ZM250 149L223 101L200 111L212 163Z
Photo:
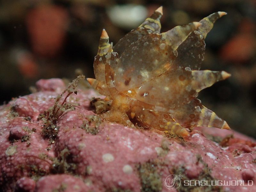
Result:
M230 129L196 99L202 89L230 76L225 71L199 70L204 39L225 14L216 12L160 33L159 7L115 46L103 29L93 63L95 79L87 78L106 100L112 100L101 117L129 127L140 122L180 136L188 136L196 126Z

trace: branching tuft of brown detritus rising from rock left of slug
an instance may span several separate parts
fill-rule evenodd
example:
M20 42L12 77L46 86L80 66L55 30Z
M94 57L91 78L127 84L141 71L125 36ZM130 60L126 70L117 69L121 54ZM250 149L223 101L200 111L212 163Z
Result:
M44 114L40 114L38 119L41 119L44 123L42 133L46 138L49 138L49 144L54 143L55 138L59 132L59 127L56 125L57 120L64 111L75 110L73 105L66 103L68 97L76 90L78 82L83 80L84 75L76 77L71 83L69 83L68 88L65 89L60 95L55 98L53 107L44 111ZM60 104L61 98L67 93L64 100Z

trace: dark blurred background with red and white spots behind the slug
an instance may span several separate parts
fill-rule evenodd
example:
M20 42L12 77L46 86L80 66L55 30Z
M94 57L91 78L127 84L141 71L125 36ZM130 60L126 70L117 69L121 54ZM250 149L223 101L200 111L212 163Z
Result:
M139 6L140 5L140 6ZM0 0L0 103L29 94L41 78L93 77L102 28L114 44L164 6L162 31L228 12L206 38L201 69L232 77L200 92L232 129L256 138L256 2L253 0Z

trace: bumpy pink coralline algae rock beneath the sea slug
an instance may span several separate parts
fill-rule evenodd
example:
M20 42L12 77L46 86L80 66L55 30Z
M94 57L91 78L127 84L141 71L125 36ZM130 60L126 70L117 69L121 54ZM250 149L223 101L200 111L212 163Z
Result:
M47 113L64 83L36 86L38 92L0 107L0 191L256 191L252 138L206 127L180 138L107 122L90 102L102 96L90 89L70 94L54 121ZM181 176L180 186L170 190L164 181L173 175ZM236 180L241 184L229 183Z

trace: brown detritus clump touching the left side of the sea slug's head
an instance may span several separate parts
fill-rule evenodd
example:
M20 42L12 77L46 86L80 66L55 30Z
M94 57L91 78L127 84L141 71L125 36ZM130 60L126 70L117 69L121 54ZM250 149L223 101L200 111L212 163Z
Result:
M91 107L93 110L95 110L96 114L102 114L110 109L111 102L110 101L105 101L100 98L92 98L91 102Z

